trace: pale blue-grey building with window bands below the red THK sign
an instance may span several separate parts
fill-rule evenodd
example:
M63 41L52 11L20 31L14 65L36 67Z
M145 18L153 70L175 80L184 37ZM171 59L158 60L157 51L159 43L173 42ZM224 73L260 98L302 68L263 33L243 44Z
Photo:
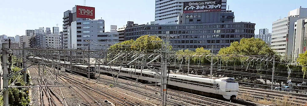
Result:
M88 49L90 46L90 49L105 50L119 40L118 32L104 32L104 20L74 21L71 24L70 35L67 40L70 37L72 49Z

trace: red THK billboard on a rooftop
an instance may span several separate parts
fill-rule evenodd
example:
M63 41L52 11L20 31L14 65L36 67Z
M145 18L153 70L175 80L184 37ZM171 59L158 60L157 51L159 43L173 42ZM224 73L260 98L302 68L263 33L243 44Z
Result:
M95 7L76 6L77 18L95 18Z

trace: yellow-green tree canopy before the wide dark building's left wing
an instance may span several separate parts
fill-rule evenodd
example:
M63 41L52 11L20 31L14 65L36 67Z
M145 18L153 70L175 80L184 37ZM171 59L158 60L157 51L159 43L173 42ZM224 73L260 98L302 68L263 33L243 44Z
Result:
M146 51L153 52L156 49L161 49L162 40L157 36L143 35L138 39L123 41L112 45L110 51ZM168 46L172 49L172 46Z

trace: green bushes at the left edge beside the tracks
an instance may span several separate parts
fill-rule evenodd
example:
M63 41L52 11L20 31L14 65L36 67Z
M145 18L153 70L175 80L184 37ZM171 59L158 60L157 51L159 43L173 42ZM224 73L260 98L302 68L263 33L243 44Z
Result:
M16 57L12 56L12 64L11 66L14 67L11 69L11 73L17 73L21 69L16 67L17 61L19 63L21 60L17 59ZM19 74L16 74L13 77L10 77L9 79L9 85L14 86L29 86L29 74L27 73L27 81L24 82L24 75L22 72ZM10 106L28 106L30 103L30 97L27 93L29 89L28 88L9 88L9 105ZM0 106L3 106L3 94L0 96Z

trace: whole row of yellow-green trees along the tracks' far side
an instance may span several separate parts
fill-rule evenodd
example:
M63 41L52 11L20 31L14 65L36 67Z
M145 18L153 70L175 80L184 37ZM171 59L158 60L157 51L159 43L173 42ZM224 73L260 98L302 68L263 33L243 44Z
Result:
M156 36L149 36L144 35L142 37L139 37L136 41L129 40L124 41L118 44L115 44L111 46L111 51L145 51L145 52L153 52L154 50L161 48L161 42L162 40L159 37ZM171 47L169 47L171 48ZM197 48L195 51L186 49L186 50L178 50L176 54L181 55L184 57L185 61L190 61L190 63L210 63L208 61L208 58L210 58L210 55L207 56L211 51L205 50L204 48ZM244 55L244 56L271 56L275 55L275 61L278 62L286 62L287 59L280 58L276 52L273 51L263 40L259 38L242 38L240 42L235 41L232 42L229 47L221 48L218 55L230 55L231 54L238 54L238 55ZM202 55L206 57L193 57L193 55ZM234 56L234 55L232 55ZM217 61L219 59L222 59L222 63L224 65L249 65L247 62L248 57L227 57L227 56L221 56L221 57L214 57L214 61ZM178 59L182 59L181 57ZM299 65L303 66L297 66L297 65L287 65L282 63L277 63L275 66L276 68L280 69L289 69L293 68L294 70L301 69L303 72L303 78L305 78L305 74L307 73L307 54L300 54L299 58L297 59L297 62ZM264 63L258 63L259 65L263 65ZM272 67L272 64L269 64L267 66ZM258 72L257 72L258 73ZM268 74L266 72L266 74ZM301 78L301 75L294 75L299 76Z

